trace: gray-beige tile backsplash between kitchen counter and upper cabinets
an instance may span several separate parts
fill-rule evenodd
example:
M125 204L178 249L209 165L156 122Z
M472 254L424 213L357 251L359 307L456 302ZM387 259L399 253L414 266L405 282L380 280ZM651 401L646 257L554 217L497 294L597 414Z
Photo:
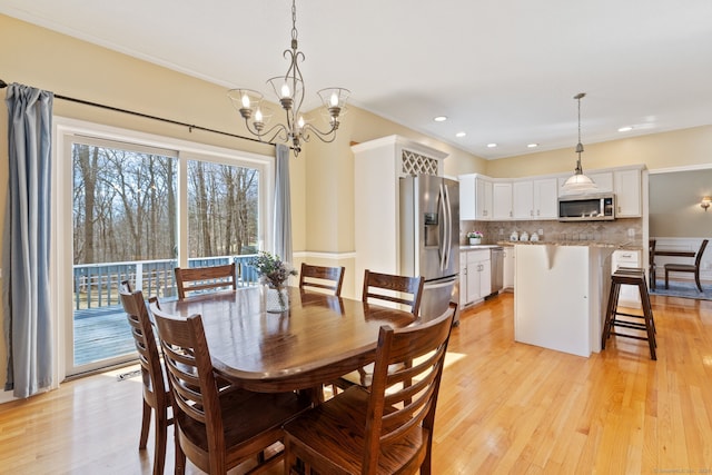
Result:
M614 221L561 222L557 220L532 221L461 221L459 243L468 244L467 232L482 231L482 244L495 244L510 240L512 231L538 234L540 241L599 241L630 243L643 239L643 219L625 218ZM543 231L543 232L540 232ZM631 236L630 234L634 236Z

